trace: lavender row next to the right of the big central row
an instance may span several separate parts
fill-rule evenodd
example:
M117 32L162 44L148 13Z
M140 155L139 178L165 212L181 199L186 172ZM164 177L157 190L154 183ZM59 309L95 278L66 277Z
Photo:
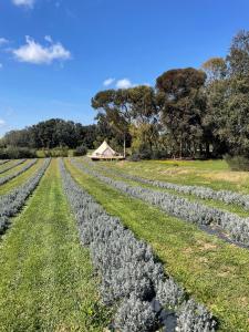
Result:
M211 208L200 203L194 203L186 198L178 197L168 193L160 193L149 188L131 186L127 183L115 180L97 173L96 170L83 166L75 159L71 162L83 172L89 173L111 185L112 187L128 194L135 198L139 198L156 205L167 214L194 222L200 226L215 226L225 230L237 243L249 247L249 218L241 218L235 214L230 214L218 208Z

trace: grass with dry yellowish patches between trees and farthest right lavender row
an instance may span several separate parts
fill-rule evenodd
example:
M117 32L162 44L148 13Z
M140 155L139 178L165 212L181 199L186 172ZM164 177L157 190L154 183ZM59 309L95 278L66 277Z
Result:
M125 160L103 165L151 179L249 194L249 173L230 172L225 160Z

